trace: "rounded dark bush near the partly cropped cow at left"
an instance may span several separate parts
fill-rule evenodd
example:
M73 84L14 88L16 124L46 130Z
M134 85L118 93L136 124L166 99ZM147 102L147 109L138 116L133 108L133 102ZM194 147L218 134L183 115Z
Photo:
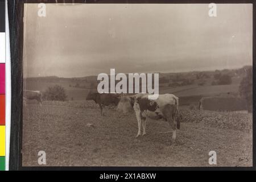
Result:
M48 101L66 101L67 94L63 86L55 85L47 88L43 93L43 98Z

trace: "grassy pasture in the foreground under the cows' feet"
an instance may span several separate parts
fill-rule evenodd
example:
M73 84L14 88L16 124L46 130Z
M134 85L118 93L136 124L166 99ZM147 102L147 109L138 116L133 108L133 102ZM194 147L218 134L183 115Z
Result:
M217 166L252 166L247 113L181 108L177 142L170 145L171 133L163 133L171 131L168 123L148 120L147 135L135 138L134 113L117 118L108 109L102 117L93 102L44 101L42 107L30 102L23 109L23 166L38 166L41 150L47 166L210 166L211 150L217 152ZM240 158L248 161L241 164Z

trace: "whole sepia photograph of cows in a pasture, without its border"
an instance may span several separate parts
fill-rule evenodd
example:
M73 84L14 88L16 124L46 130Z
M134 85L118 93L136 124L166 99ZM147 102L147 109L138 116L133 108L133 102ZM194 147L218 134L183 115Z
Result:
M24 167L253 166L253 5L24 3Z

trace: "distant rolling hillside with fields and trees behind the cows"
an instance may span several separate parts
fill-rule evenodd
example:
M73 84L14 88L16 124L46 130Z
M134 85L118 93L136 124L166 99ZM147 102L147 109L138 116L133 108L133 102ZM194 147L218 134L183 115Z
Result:
M203 72L159 73L159 92L175 93L179 97L209 96L223 93L238 94L240 82L249 68L251 67ZM222 75L230 77L231 82L228 85L221 86L220 77ZM23 86L24 89L44 92L48 86L57 84L65 88L69 100L84 100L89 90L97 89L98 82L97 76L74 78L48 76L24 78Z

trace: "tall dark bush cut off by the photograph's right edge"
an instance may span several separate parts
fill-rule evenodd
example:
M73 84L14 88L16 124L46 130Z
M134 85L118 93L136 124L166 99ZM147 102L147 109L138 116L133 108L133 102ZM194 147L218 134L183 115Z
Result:
M253 111L253 68L246 70L246 76L242 79L239 87L240 96L245 98L247 110Z

